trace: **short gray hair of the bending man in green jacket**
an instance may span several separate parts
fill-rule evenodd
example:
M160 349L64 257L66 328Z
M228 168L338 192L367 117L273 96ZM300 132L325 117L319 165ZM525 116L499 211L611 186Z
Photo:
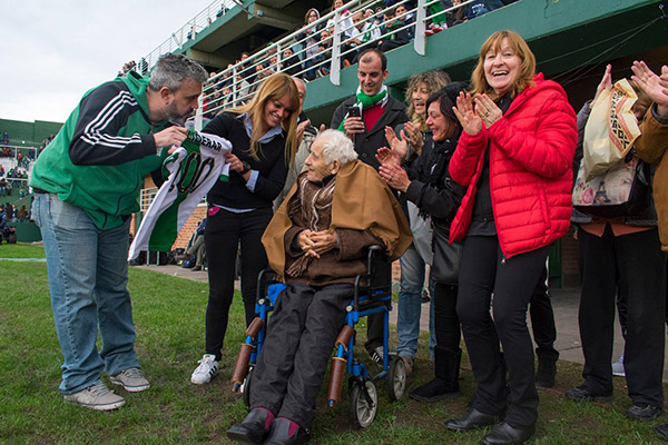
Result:
M204 83L208 80L208 73L202 65L189 60L183 55L164 55L160 56L150 72L148 88L159 91L160 88L167 87L171 91L176 91L180 88L181 82L188 78Z

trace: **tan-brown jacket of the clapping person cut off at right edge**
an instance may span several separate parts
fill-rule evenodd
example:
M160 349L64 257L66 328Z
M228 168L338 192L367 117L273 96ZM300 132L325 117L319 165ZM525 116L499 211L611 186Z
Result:
M655 208L657 209L661 250L668 251L668 123L660 123L655 117L652 105L642 123L640 137L636 139L638 156L646 162L655 164L657 170L652 182Z

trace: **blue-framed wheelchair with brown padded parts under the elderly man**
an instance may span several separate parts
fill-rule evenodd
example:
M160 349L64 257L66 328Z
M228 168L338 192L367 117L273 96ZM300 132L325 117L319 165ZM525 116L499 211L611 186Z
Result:
M263 270L257 283L257 317L246 329L246 339L232 376L233 392L242 392L244 403L250 404L253 373L266 335L267 322L276 299L286 285L276 281L276 274ZM376 383L385 380L391 400L403 396L406 389L406 368L396 355L383 354L383 368L376 375L354 354L355 326L361 318L372 314L383 316L383 350L387 352L390 337L390 312L392 310L392 268L385 260L384 248L370 246L366 274L355 277L354 294L346 307L345 324L334 343L334 355L327 387L327 406L333 407L341 399L344 372L348 375L350 417L357 428L366 428L375 418L379 405Z

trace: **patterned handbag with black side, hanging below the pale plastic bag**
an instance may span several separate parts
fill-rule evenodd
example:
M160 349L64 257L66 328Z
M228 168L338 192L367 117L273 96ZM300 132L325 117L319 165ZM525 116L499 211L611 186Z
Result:
M632 155L632 154L631 154ZM627 157L628 158L628 157ZM615 218L641 215L650 205L650 166L632 157L622 159L602 175L587 181L580 164L573 187L573 207L592 216Z

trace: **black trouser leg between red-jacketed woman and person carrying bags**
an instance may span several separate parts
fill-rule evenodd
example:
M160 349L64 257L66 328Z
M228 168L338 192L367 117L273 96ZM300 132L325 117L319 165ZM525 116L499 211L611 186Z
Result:
M531 296L529 304L531 316L531 330L536 343L536 355L549 360L559 359L559 352L554 349L557 342L557 325L554 324L554 310L550 289L548 287L548 268L543 267L540 278Z

